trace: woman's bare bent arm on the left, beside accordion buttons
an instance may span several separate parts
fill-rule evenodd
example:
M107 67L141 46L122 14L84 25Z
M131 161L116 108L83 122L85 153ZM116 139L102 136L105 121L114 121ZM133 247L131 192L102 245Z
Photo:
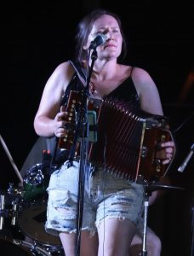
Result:
M51 137L59 133L62 117L66 114L64 112L59 113L60 102L73 73L70 64L64 62L56 67L45 84L43 96L34 119L37 135Z

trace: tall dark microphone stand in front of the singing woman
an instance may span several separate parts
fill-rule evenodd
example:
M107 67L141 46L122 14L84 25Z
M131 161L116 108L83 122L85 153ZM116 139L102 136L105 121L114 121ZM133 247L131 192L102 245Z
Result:
M82 91L82 102L81 107L77 114L77 129L75 132L75 137L73 144L71 146L69 154L69 163L68 166L72 166L72 161L75 156L77 138L81 135L80 143L80 165L79 165L79 179L78 179L78 201L77 201L77 234L76 234L76 256L80 255L80 244L81 244L81 231L83 223L83 197L84 197L84 183L85 183L85 174L88 171L88 106L87 100L89 96L89 82L91 74L94 67L94 61L97 59L97 51L94 48L91 55L91 67L89 68L87 83L85 88Z

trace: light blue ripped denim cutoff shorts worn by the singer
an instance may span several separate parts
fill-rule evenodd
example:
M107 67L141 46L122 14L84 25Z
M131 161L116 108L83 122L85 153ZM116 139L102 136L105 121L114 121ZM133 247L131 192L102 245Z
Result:
M128 219L138 224L143 210L144 188L138 183L115 177L102 168L85 168L82 230L93 236L106 218ZM79 162L52 173L48 184L48 207L45 230L59 236L60 232L76 233ZM87 175L86 175L87 176Z

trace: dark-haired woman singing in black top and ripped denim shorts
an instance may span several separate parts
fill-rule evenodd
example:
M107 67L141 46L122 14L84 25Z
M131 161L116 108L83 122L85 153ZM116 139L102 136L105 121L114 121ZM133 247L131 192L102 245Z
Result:
M97 59L90 79L93 85L91 95L117 99L134 110L141 108L148 113L163 115L157 87L150 75L139 67L117 61L125 46L117 15L97 9L78 24L76 61L83 71L88 71L88 66L91 66L94 49L90 45L99 33L106 36L106 42L96 47ZM61 138L68 133L66 108L60 108L60 105L67 86L76 79L74 74L71 62L66 61L56 67L48 79L34 119L37 135ZM82 84L78 86L82 89ZM162 143L161 148L165 165L173 156L174 143ZM84 191L80 255L126 256L142 212L144 188L142 184L115 177L100 167L92 166L92 171L89 171ZM65 162L52 174L48 185L46 230L60 236L66 256L74 256L77 250L78 174L77 160L72 166Z

